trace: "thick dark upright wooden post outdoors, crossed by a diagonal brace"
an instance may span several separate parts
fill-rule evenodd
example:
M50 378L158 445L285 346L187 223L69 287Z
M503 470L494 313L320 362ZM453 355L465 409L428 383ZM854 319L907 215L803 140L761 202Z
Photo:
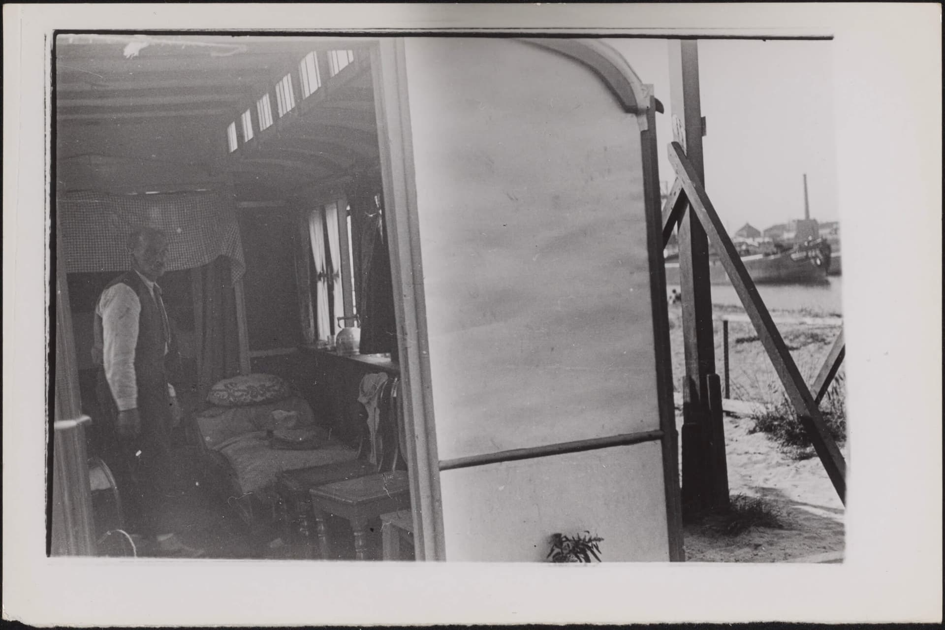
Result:
M671 41L669 60L674 137L686 146L687 155L702 181L702 113L696 41ZM669 201L671 199L667 199L667 203ZM684 206L679 209L679 213L683 212ZM725 440L722 436L710 439L707 434L713 424L706 377L715 373L709 242L692 213L682 214L679 221L679 285L686 362L682 388L682 502L685 510L697 512L724 507L713 504L711 498L728 497L729 480L712 464L725 458ZM709 453L710 444L723 451Z

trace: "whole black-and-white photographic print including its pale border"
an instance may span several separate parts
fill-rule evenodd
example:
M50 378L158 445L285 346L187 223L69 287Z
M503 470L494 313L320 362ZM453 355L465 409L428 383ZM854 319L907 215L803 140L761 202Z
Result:
M215 7L247 20L188 23L172 7L176 22L148 24L128 6L100 25L53 20L30 47L44 58L19 61L42 85L42 135L5 153L31 142L45 162L29 196L45 252L26 315L45 349L23 364L40 370L45 424L14 431L42 457L29 485L42 549L29 553L43 570L105 584L223 573L216 602L245 591L224 586L237 573L266 575L294 604L304 596L283 580L305 592L307 579L353 579L363 597L346 596L366 601L366 580L424 568L524 570L529 590L548 579L555 592L613 589L626 570L659 576L665 597L705 584L690 565L760 571L742 574L754 587L749 575L778 571L830 585L861 562L906 570L922 557L940 580L940 541L922 536L941 526L940 450L928 451L941 270L905 264L940 263L940 61L927 60L936 75L905 73L917 92L937 81L937 109L900 103L902 119L866 128L851 123L863 95L845 92L853 56L816 22L635 28L620 9L646 7L593 5L597 17L552 27L483 5L497 17L478 26L459 6L418 20L422 5L381 5L401 15L385 29L353 5L321 24L317 7L277 5L253 26L265 9ZM912 23L940 17L907 7ZM902 148L851 157L848 139L875 128L909 143L920 115L939 150L910 158L921 165L906 179L924 187L891 207L903 176L870 193L866 172ZM15 225L5 200L14 232L24 186ZM26 241L13 252L4 240L19 272ZM20 322L22 280L15 297L5 288ZM907 344L911 382L870 363ZM891 551L870 557L856 536L880 522L869 510L889 518L904 501L886 501L898 490L882 475L909 462L939 490L899 512L911 524L896 526L921 536L884 535ZM927 593L890 604L915 614L893 619L940 621L940 589L937 608ZM560 601L550 619L512 605L511 621L716 619L616 604L600 618ZM872 621L811 604L790 621ZM741 621L789 621L778 606L748 605ZM253 621L407 619L310 612Z

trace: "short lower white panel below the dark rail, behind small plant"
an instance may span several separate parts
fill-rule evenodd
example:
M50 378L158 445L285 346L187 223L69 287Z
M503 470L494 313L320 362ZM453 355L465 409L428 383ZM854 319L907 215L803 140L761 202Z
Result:
M659 442L444 470L440 487L449 561L541 562L552 534L585 530L604 562L669 560Z

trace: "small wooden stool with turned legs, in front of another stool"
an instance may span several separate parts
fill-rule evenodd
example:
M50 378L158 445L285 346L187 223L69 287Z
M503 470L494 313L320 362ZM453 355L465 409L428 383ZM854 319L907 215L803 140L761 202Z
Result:
M368 559L368 522L382 514L410 510L410 485L406 470L394 470L322 485L309 490L318 527L322 557L331 553L327 516L347 519L354 533L354 557Z

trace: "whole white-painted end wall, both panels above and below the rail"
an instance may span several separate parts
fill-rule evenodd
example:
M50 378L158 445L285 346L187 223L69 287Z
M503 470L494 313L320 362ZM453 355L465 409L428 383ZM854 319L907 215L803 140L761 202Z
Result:
M586 66L407 39L440 461L660 428L640 128ZM658 442L440 473L446 559L668 559Z

